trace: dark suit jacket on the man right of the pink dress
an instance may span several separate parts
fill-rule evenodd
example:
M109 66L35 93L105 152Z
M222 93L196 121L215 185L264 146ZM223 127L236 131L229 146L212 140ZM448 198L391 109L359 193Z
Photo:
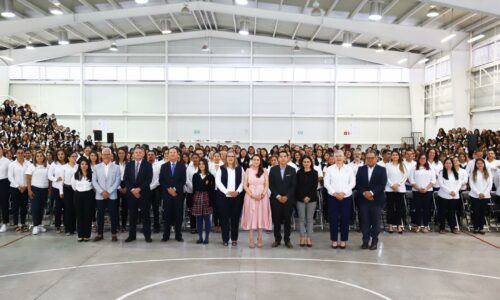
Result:
M285 175L281 179L280 166L274 166L269 171L269 189L271 190L271 203L279 203L276 196L287 196L287 204L295 203L295 169L286 166Z

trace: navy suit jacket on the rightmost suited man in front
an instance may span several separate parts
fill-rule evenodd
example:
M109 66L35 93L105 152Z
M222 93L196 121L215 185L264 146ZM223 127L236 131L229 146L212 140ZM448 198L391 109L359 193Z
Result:
M368 166L364 165L359 167L356 174L356 190L359 197L359 203L370 202L367 200L363 193L365 191L372 191L374 202L377 205L383 205L385 201L384 189L387 184L387 172L384 167L375 165L370 181L368 181Z

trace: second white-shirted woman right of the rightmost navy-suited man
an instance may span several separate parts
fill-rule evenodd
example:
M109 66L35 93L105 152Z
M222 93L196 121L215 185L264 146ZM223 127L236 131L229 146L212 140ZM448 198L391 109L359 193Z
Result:
M431 220L432 187L436 183L434 170L427 162L427 156L420 154L417 165L410 171L410 183L413 190L413 208L417 222L416 232L429 232Z

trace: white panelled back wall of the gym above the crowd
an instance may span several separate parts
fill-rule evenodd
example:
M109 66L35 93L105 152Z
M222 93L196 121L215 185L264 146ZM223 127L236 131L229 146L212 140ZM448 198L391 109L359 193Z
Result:
M118 54L84 54L83 66L248 67L253 63L285 66L292 71L294 67L335 66L332 55L312 51L292 54L288 47L264 44L254 44L252 49L248 42L219 39L210 39L212 55L206 55L199 51L203 42L169 42L168 59L163 43L129 46ZM50 64L67 65L67 61ZM346 58L338 61L338 68L356 68L360 64ZM365 63L361 67L380 66ZM399 144L401 137L411 134L409 90L404 83L132 82L79 78L67 82L13 80L10 94L33 104L37 111L56 113L61 123L82 135L97 129L103 131L103 137L114 132L120 144L158 145L166 140L169 144L232 141L266 146L289 140L310 144Z

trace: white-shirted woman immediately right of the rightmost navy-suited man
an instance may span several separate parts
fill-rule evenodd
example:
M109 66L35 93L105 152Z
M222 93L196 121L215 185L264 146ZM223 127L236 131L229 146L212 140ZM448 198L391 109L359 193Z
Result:
M408 178L403 160L398 151L392 151L391 161L385 165L387 172L387 185L385 195L387 200L387 226L388 232L393 233L393 225L398 227L398 233L403 233L404 195L405 182Z

